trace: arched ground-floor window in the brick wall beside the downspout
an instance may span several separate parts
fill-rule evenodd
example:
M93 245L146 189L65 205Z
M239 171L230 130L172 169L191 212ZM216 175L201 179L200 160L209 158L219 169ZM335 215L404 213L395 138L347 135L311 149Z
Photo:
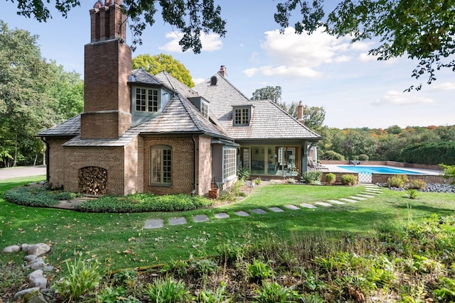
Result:
M171 151L171 147L167 145L156 145L151 147L151 184L171 185Z

